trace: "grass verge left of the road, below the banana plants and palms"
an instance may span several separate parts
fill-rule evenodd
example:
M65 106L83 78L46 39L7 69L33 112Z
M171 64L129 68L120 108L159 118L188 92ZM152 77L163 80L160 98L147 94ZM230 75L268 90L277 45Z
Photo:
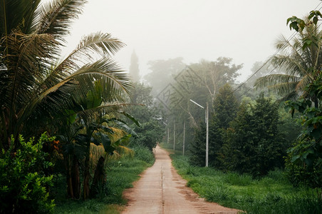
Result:
M98 198L90 200L66 199L65 178L56 182L54 213L120 213L127 203L122 197L125 188L140 178L140 173L154 163L154 156L145 148L134 148L134 158L120 158L108 162L106 185L101 188Z

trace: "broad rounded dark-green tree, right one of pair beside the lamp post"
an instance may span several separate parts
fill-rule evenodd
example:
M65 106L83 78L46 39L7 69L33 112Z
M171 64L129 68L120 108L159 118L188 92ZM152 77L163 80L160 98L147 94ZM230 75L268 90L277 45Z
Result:
M229 170L261 176L284 165L287 146L278 129L278 109L263 93L256 103L241 104L222 149Z

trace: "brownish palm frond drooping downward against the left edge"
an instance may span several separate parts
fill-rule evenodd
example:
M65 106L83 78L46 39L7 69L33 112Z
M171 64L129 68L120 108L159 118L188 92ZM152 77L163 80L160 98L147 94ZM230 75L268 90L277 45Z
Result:
M23 34L20 31L1 39L1 44L8 41L9 54L6 62L6 102L9 108L24 106L30 99L33 88L43 78L48 68L48 57L56 41L46 34Z

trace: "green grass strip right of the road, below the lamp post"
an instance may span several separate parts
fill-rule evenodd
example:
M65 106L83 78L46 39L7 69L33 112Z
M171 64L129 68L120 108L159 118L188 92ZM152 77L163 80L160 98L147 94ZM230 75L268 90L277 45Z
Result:
M322 213L321 191L294 188L281 170L264 178L223 173L214 168L189 165L189 158L172 154L172 164L187 185L208 201L244 213Z

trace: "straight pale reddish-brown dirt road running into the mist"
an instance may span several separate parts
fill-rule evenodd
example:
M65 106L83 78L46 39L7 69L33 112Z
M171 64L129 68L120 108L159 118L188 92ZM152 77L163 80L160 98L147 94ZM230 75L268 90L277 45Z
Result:
M194 193L172 167L167 151L155 149L155 164L142 173L134 188L125 190L125 213L237 213L238 210L208 203Z

